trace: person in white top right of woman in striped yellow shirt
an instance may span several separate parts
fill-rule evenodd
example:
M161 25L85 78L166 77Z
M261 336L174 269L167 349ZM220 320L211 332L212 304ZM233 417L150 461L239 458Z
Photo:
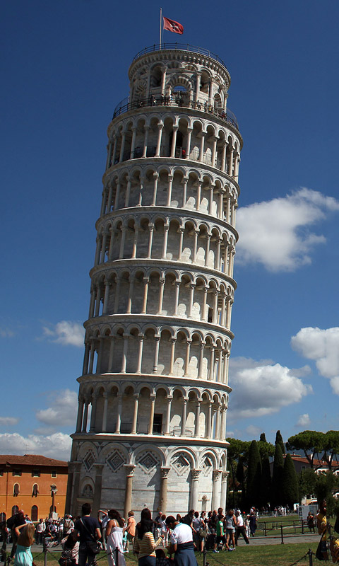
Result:
M166 524L172 531L167 550L170 555L174 554L174 565L197 566L191 527L185 523L179 523L172 515L167 517Z

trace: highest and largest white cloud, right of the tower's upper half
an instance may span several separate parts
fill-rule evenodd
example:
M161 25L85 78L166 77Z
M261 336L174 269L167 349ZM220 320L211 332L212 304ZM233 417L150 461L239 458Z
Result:
M338 210L338 200L307 188L239 208L237 263L258 262L273 272L311 263L311 250L326 238L310 232L309 226Z

